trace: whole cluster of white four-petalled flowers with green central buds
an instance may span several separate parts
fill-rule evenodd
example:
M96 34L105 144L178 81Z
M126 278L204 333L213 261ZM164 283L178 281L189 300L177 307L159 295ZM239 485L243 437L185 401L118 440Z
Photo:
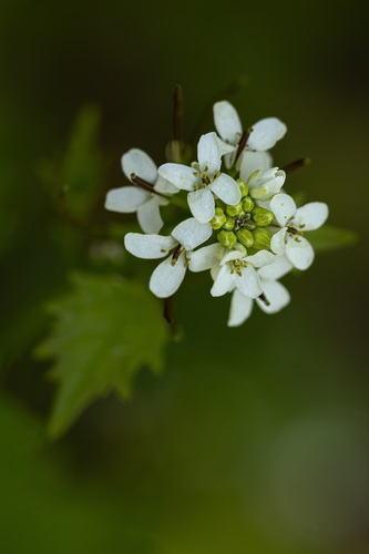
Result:
M145 234L125 236L131 254L165 258L150 279L154 295L172 296L187 269L209 270L212 296L232 293L233 327L249 317L254 300L267 314L289 302L278 279L293 267L311 265L314 249L304 235L326 222L328 207L312 202L297 208L281 189L286 174L273 166L269 154L287 131L281 121L267 117L244 132L235 107L222 101L214 105L214 122L217 133L201 136L191 166L157 168L147 154L130 150L122 168L133 185L110 191L105 207L137 213ZM185 218L164 236L160 208L168 204L184 206Z

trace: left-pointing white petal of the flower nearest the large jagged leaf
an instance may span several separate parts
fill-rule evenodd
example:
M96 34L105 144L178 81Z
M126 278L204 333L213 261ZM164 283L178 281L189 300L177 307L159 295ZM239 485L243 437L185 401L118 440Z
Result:
M162 235L129 233L124 237L125 248L137 258L145 259L164 258L176 244L175 238Z

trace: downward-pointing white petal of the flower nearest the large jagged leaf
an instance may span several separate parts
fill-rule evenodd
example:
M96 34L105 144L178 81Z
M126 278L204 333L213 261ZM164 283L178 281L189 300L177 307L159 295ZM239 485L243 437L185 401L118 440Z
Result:
M186 273L185 260L186 257L183 252L175 265L172 265L172 256L162 261L151 276L150 290L158 298L168 298L174 295Z

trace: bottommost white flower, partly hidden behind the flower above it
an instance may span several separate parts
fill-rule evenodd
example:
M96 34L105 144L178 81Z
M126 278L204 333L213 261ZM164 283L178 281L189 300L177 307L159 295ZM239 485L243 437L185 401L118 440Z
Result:
M266 314L276 314L289 302L288 290L277 279L290 271L293 267L286 256L276 256L271 264L258 269L257 275L263 293L255 300ZM252 314L253 305L253 299L236 288L232 295L228 327L244 324Z

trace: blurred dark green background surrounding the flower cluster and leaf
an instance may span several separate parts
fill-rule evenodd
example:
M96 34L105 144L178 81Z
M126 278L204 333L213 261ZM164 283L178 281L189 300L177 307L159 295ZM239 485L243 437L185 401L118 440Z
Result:
M0 1L2 552L369 551L367 18L359 0ZM58 160L89 142L76 117L90 110L92 136L100 114L100 131L75 170L90 191L73 217L133 223L102 207L125 183L121 154L164 162L173 86L191 137L244 74L232 102L246 125L288 125L276 163L312 158L288 192L327 202L329 223L360 240L288 276L290 306L255 308L237 329L229 298L187 278L175 304L184 340L170 343L163 376L144 368L130 402L110 394L50 441L51 362L32 353L50 329L43 306L69 290L71 269L122 270L60 213Z

